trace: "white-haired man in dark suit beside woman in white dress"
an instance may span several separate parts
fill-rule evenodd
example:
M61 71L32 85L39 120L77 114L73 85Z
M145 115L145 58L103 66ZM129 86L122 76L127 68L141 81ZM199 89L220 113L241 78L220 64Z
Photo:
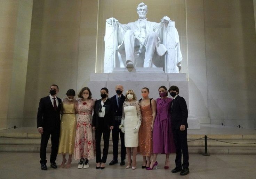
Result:
M118 163L118 143L119 143L119 134L121 140L121 162L120 165L125 165L125 155L126 155L126 147L125 147L125 134L121 132L119 129L119 125L121 123L121 117L123 113L123 102L125 102L125 96L123 96L123 86L118 84L115 87L115 92L117 93L110 100L114 104L115 111L115 124L114 129L112 130L112 142L113 142L113 160L109 163L113 165Z

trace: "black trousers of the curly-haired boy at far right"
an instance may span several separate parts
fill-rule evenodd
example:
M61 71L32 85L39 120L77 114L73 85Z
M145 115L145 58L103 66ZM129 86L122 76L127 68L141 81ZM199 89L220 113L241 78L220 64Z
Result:
M176 168L189 168L189 150L187 147L187 129L181 131L173 129L173 138L176 147ZM183 154L183 163L181 164L181 155Z

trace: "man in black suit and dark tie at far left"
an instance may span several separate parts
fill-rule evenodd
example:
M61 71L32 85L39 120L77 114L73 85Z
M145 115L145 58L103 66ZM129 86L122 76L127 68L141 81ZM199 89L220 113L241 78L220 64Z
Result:
M51 135L51 155L50 163L51 168L56 169L58 146L59 146L59 130L61 124L61 99L56 97L59 92L59 87L56 84L51 85L50 95L40 99L38 112L37 112L37 128L41 134L40 146L40 163L41 170L47 170L46 166L46 147Z

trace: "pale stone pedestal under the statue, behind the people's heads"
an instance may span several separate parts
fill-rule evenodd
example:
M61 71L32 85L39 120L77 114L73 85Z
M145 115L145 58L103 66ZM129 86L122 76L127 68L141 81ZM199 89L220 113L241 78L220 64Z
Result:
M123 93L133 89L137 100L141 99L141 89L147 87L150 90L150 98L159 98L158 88L166 86L177 86L179 95L184 97L189 109L189 82L186 80L186 73L164 73L162 68L114 68L112 73L91 73L88 87L93 98L100 99L100 90L106 87L109 90L109 97L115 95L115 86L121 84ZM170 95L169 95L170 97ZM200 129L199 120L189 114L189 129Z

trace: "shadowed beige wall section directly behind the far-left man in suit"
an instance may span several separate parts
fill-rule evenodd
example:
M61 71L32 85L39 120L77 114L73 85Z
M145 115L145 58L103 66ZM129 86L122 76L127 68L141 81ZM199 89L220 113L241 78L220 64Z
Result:
M81 0L34 1L23 126L36 126L39 100L59 86L60 98L77 88Z

